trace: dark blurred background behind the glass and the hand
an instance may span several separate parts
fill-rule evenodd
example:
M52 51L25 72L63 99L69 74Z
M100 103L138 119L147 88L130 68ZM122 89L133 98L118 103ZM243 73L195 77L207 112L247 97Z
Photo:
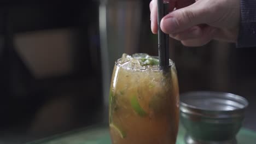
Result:
M158 55L149 0L0 1L0 143L25 143L107 122L108 89L122 53ZM170 39L181 93L222 91L249 100L256 130L256 49Z

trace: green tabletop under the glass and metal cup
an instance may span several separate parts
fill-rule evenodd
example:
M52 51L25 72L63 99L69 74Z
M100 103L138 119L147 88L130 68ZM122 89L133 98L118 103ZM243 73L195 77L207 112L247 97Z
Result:
M185 129L180 126L176 144L185 144ZM237 134L238 144L256 143L256 133L242 128ZM110 135L106 124L94 125L80 130L55 135L27 144L110 144Z

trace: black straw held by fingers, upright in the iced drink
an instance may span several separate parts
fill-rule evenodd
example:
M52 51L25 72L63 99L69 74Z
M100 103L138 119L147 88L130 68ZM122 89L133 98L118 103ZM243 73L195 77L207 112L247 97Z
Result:
M158 0L158 54L159 66L169 65L169 36L162 32L160 22L162 17L168 14L169 3Z

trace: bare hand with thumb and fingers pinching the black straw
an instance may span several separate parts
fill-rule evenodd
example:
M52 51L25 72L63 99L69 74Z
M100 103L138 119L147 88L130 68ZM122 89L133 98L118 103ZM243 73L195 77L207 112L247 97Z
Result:
M240 23L240 0L169 0L170 13L161 20L161 30L185 46L209 41L236 43ZM151 29L158 33L157 0L149 4ZM173 10L176 9L176 10Z

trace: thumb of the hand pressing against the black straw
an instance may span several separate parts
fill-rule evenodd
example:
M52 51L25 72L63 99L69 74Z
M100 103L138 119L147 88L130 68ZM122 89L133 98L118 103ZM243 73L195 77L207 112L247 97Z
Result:
M201 6L200 1L197 1L188 7L172 11L162 18L160 24L162 31L174 34L200 23L207 23L206 16L209 17L209 15L206 13L206 8L203 7L205 6Z

